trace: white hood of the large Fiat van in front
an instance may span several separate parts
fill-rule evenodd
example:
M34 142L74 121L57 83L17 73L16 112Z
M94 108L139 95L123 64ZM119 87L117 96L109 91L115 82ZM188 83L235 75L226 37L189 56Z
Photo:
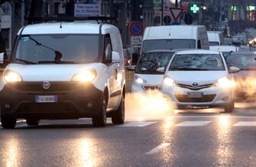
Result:
M102 63L89 64L9 64L5 71L11 70L21 75L24 82L70 82L73 75L86 69L100 69Z

